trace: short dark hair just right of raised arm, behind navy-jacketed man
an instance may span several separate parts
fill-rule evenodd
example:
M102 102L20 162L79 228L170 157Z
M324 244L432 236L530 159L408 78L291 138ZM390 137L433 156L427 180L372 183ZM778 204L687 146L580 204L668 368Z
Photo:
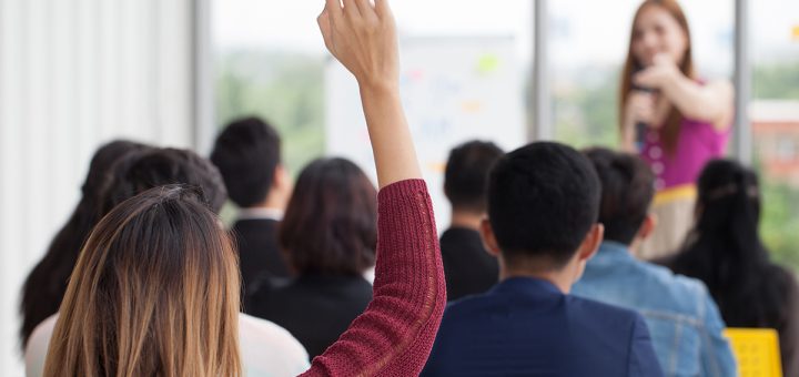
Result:
M453 210L486 211L488 172L503 153L496 144L476 140L449 152L444 172L444 193Z

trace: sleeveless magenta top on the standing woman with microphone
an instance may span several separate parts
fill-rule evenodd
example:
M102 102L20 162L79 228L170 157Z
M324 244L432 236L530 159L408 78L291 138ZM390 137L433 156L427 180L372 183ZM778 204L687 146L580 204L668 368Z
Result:
M677 149L670 155L661 144L660 130L649 129L640 154L655 173L655 187L696 183L708 161L724 156L729 135L730 129L719 132L708 122L682 119Z

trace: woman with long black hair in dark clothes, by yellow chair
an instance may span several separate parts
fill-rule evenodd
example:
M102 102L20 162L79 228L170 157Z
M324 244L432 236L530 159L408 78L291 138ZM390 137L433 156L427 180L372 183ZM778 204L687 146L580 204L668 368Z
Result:
M709 162L699 176L696 211L674 271L705 282L728 326L777 327L795 315L786 313L786 297L796 282L769 262L758 235L755 172L730 160Z

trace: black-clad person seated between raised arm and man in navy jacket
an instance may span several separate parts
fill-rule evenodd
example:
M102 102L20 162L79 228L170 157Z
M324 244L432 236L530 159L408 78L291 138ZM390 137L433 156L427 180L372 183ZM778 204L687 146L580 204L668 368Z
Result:
M447 299L484 293L499 279L496 257L483 247L479 224L486 217L488 170L503 155L490 142L472 141L449 152L444 194L452 204L452 224L441 236Z

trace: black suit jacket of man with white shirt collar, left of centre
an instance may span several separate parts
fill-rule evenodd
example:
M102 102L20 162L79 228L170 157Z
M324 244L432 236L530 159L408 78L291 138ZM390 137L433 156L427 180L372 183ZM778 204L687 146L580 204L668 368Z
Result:
M233 224L231 232L239 244L239 266L245 294L252 291L250 285L261 275L270 278L290 276L277 245L277 224L271 218L239 220Z

